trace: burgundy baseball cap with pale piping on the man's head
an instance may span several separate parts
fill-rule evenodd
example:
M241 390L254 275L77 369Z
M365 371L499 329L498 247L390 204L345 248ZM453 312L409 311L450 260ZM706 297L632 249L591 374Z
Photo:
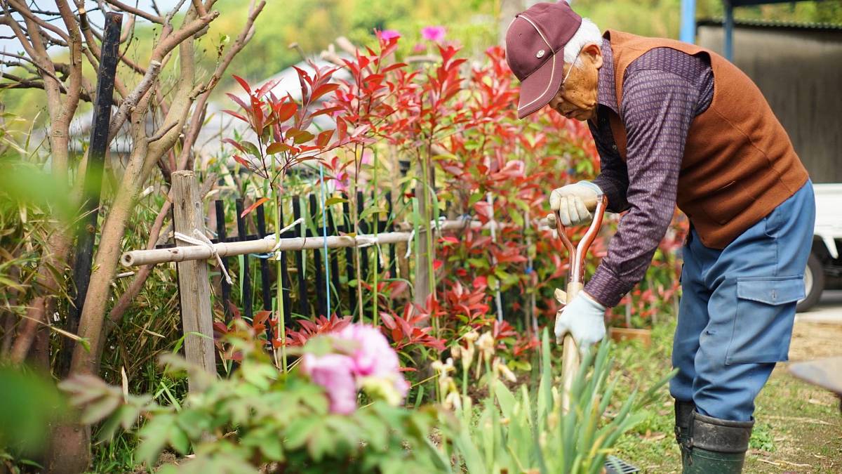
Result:
M564 45L582 17L565 0L536 3L520 12L506 32L506 61L520 79L518 118L547 105L564 80Z

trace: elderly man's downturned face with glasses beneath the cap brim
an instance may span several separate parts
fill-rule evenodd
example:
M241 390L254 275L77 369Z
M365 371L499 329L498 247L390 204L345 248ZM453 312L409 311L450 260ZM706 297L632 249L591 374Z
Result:
M585 45L578 60L578 66L565 65L567 80L562 83L549 105L562 116L586 121L596 116L597 83L602 67L600 46L596 43Z

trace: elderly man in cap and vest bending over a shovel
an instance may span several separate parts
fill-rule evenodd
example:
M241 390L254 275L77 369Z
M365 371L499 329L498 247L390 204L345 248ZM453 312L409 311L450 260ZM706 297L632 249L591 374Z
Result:
M552 191L562 224L600 193L626 212L556 333L605 337L605 310L639 282L673 216L690 219L670 382L684 472L739 472L754 398L786 360L813 238L813 187L757 86L714 52L600 30L568 3L519 13L506 55L518 116L588 121L600 175ZM555 223L554 218L551 224Z

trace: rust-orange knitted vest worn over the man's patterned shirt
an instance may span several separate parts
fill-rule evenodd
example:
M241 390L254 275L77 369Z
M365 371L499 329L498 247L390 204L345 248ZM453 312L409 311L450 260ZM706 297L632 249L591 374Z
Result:
M789 136L754 82L724 57L699 46L608 30L617 105L626 67L643 53L669 47L706 54L713 72L711 105L690 123L679 172L679 209L702 244L723 249L807 182ZM610 115L617 149L626 159L626 129Z

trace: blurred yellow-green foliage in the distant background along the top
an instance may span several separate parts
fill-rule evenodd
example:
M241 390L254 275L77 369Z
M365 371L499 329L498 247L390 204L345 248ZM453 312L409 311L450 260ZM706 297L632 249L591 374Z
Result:
M269 0L258 18L257 29L247 51L237 57L230 73L249 81L261 81L285 67L301 61L290 44L297 42L307 55L317 55L339 35L355 44L364 45L374 39L373 30L398 30L407 50L421 40L420 30L426 25L444 25L447 40L466 48L472 57L480 57L488 46L497 44L500 0L440 2L436 0ZM626 30L638 35L677 38L680 0L573 0L573 8L589 17L600 29ZM199 64L207 74L213 70L220 46L233 41L242 28L248 3L220 0L216 8L222 13L211 24L202 39L204 49L197 51ZM722 16L719 0L699 0L697 18ZM779 3L759 7L738 8L738 19L767 19L793 22L842 23L842 0ZM154 36L159 28L138 23L136 40L128 55L147 62ZM403 51L408 53L410 51ZM171 68L170 68L171 69ZM88 71L93 79L94 72ZM166 76L166 72L164 73ZM128 83L138 78L126 77ZM232 85L230 75L223 78L219 93ZM36 126L43 127L43 91L10 90L0 96L6 110L28 119L37 117ZM87 112L89 105L80 109Z

